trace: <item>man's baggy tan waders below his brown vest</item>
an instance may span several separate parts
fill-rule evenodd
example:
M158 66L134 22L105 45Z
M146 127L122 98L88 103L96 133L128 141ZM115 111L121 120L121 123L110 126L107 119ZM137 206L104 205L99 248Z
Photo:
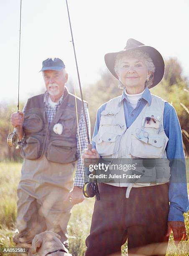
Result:
M19 233L14 236L18 247L30 246L33 237L44 230L58 233L62 242L67 240L73 205L63 201L73 188L73 172L74 164L53 163L44 155L38 160L24 160L18 185Z

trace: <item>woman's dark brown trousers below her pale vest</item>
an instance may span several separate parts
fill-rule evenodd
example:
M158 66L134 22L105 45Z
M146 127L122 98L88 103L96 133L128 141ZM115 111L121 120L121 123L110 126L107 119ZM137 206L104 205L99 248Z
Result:
M99 184L86 256L121 255L128 239L129 255L165 255L169 212L168 184L132 188Z

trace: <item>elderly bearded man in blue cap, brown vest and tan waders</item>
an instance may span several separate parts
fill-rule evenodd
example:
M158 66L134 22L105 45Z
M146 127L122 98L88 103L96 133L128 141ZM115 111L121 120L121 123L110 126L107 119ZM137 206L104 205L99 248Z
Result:
M22 139L24 158L18 185L17 244L30 244L44 230L58 233L66 243L70 210L84 200L80 152L87 142L82 102L64 86L68 74L61 59L44 60L41 72L46 92L28 99L23 113L11 117ZM86 104L85 112L89 122Z

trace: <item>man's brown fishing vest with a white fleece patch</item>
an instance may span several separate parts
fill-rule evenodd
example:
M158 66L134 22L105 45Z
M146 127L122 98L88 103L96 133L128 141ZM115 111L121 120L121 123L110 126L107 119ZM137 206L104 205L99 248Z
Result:
M82 102L76 97L78 118L81 114ZM21 148L20 155L29 160L36 160L45 154L49 161L67 164L77 160L76 132L77 116L75 96L64 90L64 99L50 125L46 115L44 94L28 99L23 131L26 142ZM53 131L54 125L60 123L63 127L61 134Z

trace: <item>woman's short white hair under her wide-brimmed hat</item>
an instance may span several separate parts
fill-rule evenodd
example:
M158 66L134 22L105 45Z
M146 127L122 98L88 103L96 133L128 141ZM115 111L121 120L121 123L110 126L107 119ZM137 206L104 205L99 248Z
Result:
M153 61L149 56L149 54L140 50L128 50L126 52L117 54L115 59L115 67L114 67L114 70L117 74L119 73L120 61L125 56L127 56L128 58L136 58L144 61L148 71L152 72L151 76L149 77L149 81L145 82L145 87L150 87L153 82L153 73L155 72L156 67L154 66ZM120 88L123 88L123 87L120 87Z

